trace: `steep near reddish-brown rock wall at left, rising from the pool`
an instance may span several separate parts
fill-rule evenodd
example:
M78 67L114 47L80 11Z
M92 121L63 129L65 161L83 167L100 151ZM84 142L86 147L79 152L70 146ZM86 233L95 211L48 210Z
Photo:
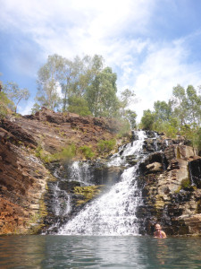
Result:
M46 214L42 200L49 172L15 136L8 134L1 130L0 234L33 232Z

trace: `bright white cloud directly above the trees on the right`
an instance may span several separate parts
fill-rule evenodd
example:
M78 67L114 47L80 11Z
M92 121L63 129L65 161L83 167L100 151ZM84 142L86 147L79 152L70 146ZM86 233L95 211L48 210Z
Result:
M189 64L187 58L190 51L184 40L163 44L162 48L152 45L146 60L136 74L134 89L141 100L133 106L138 118L145 109L152 109L156 100L169 100L172 88L177 84L187 87L200 83L201 65Z

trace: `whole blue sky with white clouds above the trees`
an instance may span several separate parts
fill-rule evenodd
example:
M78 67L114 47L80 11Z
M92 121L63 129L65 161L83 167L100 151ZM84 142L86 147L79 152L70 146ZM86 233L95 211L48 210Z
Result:
M201 85L199 0L0 0L0 80L30 91L47 56L104 56L118 93L135 92L138 114L169 100L177 84Z

